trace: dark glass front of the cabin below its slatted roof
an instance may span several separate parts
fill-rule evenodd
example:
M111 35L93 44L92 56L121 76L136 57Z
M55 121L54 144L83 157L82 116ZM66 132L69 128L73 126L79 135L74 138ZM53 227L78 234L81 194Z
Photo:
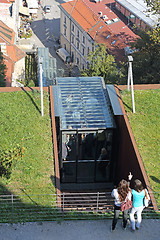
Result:
M62 183L112 181L113 129L62 132Z

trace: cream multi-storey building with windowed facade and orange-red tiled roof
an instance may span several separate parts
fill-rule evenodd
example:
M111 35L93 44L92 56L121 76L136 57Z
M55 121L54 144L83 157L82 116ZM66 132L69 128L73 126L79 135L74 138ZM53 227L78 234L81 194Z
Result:
M106 7L111 1L73 0L60 5L60 43L79 69L88 67L87 56L94 51L95 44L104 44L106 54L123 61L125 47L137 38L111 8Z

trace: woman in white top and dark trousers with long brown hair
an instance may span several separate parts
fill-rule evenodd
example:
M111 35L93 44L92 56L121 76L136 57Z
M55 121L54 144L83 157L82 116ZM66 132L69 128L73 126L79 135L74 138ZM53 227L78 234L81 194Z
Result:
M114 218L112 221L111 231L114 231L118 221L119 213L121 211L121 203L125 201L126 198L131 200L131 189L129 188L129 183L126 180L121 180L118 188L113 189L111 193L112 197L115 198L114 202ZM126 229L127 226L127 215L129 210L123 211L123 228Z

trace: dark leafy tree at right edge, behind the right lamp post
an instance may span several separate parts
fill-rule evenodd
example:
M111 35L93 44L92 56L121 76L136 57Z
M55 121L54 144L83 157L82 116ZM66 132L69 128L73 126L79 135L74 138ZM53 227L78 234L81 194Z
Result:
M160 83L160 37L159 28L141 32L133 54L134 83Z

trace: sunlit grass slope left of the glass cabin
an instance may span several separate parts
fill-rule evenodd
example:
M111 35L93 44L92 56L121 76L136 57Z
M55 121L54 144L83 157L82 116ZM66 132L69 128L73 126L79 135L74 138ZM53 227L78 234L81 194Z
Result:
M0 151L23 149L23 156L12 164L11 174L0 177L0 194L21 195L21 201L28 203L26 196L55 193L48 93L44 92L43 117L40 99L37 90L0 93ZM38 198L36 204L49 205L47 198Z

